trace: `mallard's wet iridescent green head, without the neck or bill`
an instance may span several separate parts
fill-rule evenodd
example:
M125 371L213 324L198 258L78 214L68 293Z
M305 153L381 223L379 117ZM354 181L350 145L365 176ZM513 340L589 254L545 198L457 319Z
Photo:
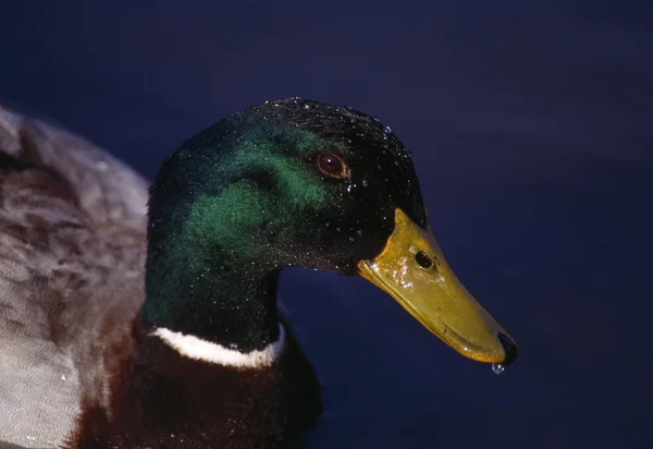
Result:
M354 274L385 244L396 207L426 226L412 162L390 129L348 108L270 101L165 160L151 189L150 252L174 231L209 257Z

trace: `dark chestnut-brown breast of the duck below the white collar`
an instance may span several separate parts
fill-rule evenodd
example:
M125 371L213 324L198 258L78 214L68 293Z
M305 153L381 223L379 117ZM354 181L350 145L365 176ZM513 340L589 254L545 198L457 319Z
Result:
M291 339L272 366L234 369L180 356L136 330L137 349L111 378L111 418L84 404L71 448L281 448L321 412L312 367ZM161 440L165 436L165 441Z

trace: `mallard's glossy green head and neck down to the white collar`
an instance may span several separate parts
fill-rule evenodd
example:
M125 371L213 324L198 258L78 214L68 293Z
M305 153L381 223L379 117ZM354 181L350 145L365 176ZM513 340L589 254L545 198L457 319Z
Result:
M258 348L275 337L282 268L369 279L361 263L386 252L397 211L428 232L410 156L377 119L305 99L235 113L185 142L151 187L143 320ZM404 250L438 262L436 248Z

